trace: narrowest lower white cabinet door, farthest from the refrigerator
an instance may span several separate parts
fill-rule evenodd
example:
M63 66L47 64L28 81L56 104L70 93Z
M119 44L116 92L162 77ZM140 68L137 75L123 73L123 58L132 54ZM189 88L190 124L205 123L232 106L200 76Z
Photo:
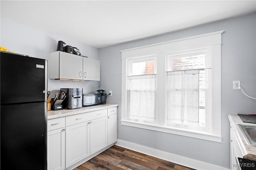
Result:
M117 114L108 116L108 145L117 141Z

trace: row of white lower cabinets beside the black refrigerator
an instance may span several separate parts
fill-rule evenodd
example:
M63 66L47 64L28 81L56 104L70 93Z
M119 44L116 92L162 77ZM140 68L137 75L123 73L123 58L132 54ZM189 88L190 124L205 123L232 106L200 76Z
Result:
M117 141L116 115L113 107L48 120L48 170L71 169L112 146Z

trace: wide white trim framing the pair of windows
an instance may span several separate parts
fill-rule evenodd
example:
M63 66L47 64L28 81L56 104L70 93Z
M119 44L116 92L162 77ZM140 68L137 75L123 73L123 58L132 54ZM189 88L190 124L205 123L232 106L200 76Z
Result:
M215 141L221 143L221 35L224 31L217 31L193 37L157 43L133 49L122 50L122 110L121 124L142 129L150 129L176 135L183 135ZM192 129L182 129L178 127L165 127L163 119L165 119L165 98L166 94L164 83L157 85L157 123L158 125L138 123L126 120L126 76L127 76L127 59L134 57L143 57L149 55L157 55L157 74L166 71L166 53L177 51L186 51L188 49L199 49L211 47L212 49L212 131L203 132ZM157 77L158 82L165 82L165 76ZM159 97L162 96L162 97Z

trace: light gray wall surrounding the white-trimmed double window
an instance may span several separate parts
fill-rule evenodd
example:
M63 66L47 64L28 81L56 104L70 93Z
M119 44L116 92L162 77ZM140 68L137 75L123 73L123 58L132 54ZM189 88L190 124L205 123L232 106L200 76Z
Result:
M224 30L222 34L222 142L161 133L121 125L121 53L120 50L150 45L204 33ZM251 96L256 96L256 14L209 23L165 35L150 37L100 49L101 89L112 90L108 103L119 104L118 139L170 152L225 168L230 167L228 114L256 113L256 100L240 90L232 90L232 81Z

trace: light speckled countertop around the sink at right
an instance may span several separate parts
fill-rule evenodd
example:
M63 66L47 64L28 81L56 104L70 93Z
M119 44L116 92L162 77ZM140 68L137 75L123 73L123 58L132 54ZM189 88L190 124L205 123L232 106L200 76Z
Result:
M242 131L238 127L238 124L251 125L251 126L256 126L256 124L243 122L237 114L228 115L228 119L230 121L230 125L232 129L234 130L239 148L244 158L250 159L250 160L256 160L256 147L246 143L244 139L244 135L242 134Z

